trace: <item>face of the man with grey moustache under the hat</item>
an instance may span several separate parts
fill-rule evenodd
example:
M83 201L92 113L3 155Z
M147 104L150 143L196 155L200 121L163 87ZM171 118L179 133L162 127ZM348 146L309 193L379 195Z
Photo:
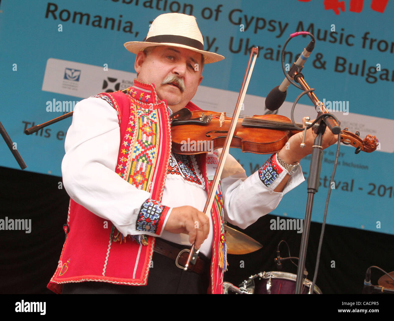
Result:
M148 55L141 51L137 54L134 69L138 80L155 85L158 98L166 99L173 112L186 106L203 80L201 54L178 47L157 46ZM182 79L184 91L175 82L162 85L167 76Z

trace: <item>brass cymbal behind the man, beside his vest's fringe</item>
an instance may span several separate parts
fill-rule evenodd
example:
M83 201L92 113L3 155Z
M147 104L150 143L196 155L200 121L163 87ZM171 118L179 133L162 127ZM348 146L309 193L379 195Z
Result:
M224 225L227 253L229 254L247 254L261 249L263 246L250 236Z

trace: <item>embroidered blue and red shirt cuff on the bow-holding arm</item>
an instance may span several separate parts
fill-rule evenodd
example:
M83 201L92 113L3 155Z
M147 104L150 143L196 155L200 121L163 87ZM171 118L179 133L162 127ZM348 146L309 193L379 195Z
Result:
M160 236L169 210L168 206L160 204L157 200L147 199L139 210L136 230Z

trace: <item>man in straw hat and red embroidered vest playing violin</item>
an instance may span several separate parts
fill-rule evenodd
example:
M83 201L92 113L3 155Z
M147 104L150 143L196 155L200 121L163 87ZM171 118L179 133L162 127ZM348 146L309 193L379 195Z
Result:
M204 64L224 59L203 50L195 18L157 17L136 54L137 78L126 93L79 102L65 141L63 184L71 196L66 241L48 288L56 293L221 293L227 268L223 221L241 228L271 212L303 182L298 161L312 151L273 154L253 175L227 157L211 215L203 212L218 153L171 152L169 117L190 102ZM187 138L187 137L186 137ZM336 142L326 131L323 148ZM256 202L264 200L264 204ZM190 244L197 262L183 271Z

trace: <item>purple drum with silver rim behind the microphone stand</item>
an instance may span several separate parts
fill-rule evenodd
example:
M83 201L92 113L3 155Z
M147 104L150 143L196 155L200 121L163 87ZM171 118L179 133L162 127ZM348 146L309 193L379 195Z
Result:
M260 272L240 284L240 290L250 294L294 294L297 275L286 272ZM312 282L304 279L302 294L311 294ZM318 286L314 293L322 294Z

